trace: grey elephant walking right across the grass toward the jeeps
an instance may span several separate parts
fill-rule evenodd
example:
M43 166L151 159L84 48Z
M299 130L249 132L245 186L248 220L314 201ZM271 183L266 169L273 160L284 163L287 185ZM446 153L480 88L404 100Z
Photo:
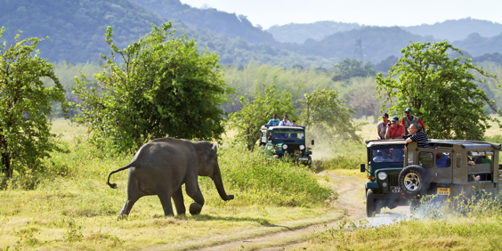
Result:
M198 187L198 176L210 177L223 200L233 199L223 188L222 175L216 154L215 143L161 138L147 142L136 152L131 163L112 171L108 175L108 185L116 189L117 184L109 183L111 174L129 169L127 199L120 215L129 215L134 203L143 196L157 195L164 209L164 215L174 215L171 198L178 215L185 214L182 184L194 202L190 204L190 214L198 215L204 206L204 197Z

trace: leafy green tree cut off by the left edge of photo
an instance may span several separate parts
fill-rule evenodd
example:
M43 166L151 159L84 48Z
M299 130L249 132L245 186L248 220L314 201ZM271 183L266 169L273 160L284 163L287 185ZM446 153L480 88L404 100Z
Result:
M3 34L1 28L0 40ZM36 45L45 39L19 38L16 35L11 46L0 46L0 168L7 178L14 170L38 170L42 158L62 150L47 116L54 101L61 102L65 114L68 111L53 64L38 57ZM45 77L53 80L52 87L44 85Z

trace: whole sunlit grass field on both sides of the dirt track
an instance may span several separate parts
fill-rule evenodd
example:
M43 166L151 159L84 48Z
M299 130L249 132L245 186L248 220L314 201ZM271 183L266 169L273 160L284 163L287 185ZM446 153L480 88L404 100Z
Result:
M369 139L376 125L362 129L361 136ZM329 204L337 198L332 190L336 185L329 179L302 166L263 161L258 153L226 144L219 150L219 160L223 184L235 195L234 200L224 202L214 184L201 177L206 198L201 215L166 217L158 198L152 196L141 198L126 220L117 221L126 202L127 172L112 176L117 190L106 185L106 178L133 156L108 157L85 142L85 128L69 126L62 119L53 121L53 132L61 134L69 152L45 159L45 174L16 176L6 190L0 190L0 248L190 249L326 223L343 215L341 208ZM499 129L487 132L490 137L499 134ZM323 143L316 142L314 166L336 169L337 174L348 177L362 175L357 169L365 161L363 143L339 142L331 149L316 150L322 147ZM184 197L189 206L191 199ZM490 214L417 218L382 227L345 223L292 248L499 250L502 214L493 208L486 210Z

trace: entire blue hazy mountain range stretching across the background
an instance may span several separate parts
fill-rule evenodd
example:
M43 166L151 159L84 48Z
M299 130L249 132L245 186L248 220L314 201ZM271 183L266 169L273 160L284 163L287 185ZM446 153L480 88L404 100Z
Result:
M255 60L285 67L312 65L332 67L344 58L377 63L400 57L409 41L436 42L448 39L473 57L498 59L502 53L502 25L486 20L447 20L415 27L370 27L357 23L320 21L312 24L254 26L246 16L214 8L193 8L180 0L0 0L2 41L11 43L18 30L21 38L50 36L38 45L50 61L85 62L109 53L104 42L111 26L114 43L129 45L172 20L195 38L201 51L219 54L223 64L246 65Z

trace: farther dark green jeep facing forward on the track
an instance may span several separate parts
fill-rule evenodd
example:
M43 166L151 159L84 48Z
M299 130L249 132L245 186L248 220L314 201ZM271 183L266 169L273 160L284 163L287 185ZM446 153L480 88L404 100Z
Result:
M260 145L268 158L289 155L305 166L312 165L312 149L305 144L305 126L262 126L260 134Z

